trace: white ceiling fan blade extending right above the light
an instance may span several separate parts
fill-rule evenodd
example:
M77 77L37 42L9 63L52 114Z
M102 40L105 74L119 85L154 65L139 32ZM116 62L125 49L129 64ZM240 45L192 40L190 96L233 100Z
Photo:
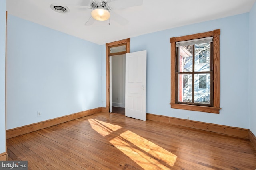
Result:
M143 0L116 0L108 2L108 6L112 10L140 6L142 4Z

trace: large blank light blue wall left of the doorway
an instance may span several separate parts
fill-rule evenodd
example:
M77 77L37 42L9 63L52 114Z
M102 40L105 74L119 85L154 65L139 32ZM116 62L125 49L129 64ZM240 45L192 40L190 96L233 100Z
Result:
M100 45L12 15L7 39L7 129L102 106Z

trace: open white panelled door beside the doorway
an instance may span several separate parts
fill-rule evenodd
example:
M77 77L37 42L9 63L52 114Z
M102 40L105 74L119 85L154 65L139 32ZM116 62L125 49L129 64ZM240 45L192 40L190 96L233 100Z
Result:
M147 51L126 53L125 115L146 120Z

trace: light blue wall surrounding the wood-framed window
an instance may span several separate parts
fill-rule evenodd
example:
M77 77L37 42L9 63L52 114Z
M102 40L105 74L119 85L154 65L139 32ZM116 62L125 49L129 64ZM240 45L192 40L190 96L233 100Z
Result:
M130 51L147 50L146 112L249 128L248 13L130 39ZM220 114L170 108L170 38L220 29ZM242 50L245 49L245 50Z

